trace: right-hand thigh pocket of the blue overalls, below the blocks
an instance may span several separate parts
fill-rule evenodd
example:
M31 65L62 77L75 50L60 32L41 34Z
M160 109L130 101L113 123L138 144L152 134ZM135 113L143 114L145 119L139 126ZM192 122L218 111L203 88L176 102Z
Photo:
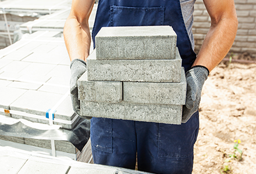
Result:
M199 129L199 115L195 113L186 124L159 124L158 157L187 158L193 154Z

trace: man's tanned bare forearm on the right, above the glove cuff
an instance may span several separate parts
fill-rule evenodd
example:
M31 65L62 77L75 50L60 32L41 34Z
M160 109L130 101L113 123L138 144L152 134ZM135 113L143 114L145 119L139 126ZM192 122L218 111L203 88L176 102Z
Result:
M193 66L202 65L211 71L226 56L236 37L236 20L223 19L211 26Z

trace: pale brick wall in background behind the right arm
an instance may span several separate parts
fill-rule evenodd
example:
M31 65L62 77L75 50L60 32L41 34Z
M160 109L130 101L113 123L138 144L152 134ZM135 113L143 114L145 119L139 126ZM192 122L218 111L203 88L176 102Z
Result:
M256 0L234 0L239 26L230 53L249 53L256 57ZM202 0L197 0L194 11L193 33L195 52L201 48L202 41L211 26L211 19Z

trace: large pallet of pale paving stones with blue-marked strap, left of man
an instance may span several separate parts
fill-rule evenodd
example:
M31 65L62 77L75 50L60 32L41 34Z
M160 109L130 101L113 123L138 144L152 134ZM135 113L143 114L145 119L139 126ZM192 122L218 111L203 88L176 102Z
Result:
M50 124L47 113L54 108L53 124L76 125L80 118L69 96L70 60L60 35L38 31L0 50L0 114Z

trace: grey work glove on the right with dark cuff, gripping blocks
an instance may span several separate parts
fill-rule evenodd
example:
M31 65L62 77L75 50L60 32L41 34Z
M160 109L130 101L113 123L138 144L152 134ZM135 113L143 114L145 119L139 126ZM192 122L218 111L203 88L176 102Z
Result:
M190 117L198 110L202 85L207 80L209 70L204 66L194 66L186 73L187 96L186 105L183 106L182 122L187 122Z

